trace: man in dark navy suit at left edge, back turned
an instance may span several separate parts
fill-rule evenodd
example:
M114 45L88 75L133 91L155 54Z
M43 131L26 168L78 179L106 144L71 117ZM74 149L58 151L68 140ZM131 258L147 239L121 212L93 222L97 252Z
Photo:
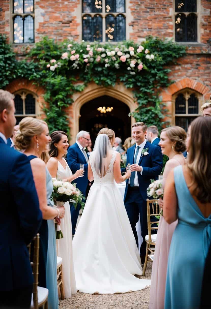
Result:
M0 308L30 308L33 277L26 245L42 214L28 157L6 145L16 123L13 99L0 90Z

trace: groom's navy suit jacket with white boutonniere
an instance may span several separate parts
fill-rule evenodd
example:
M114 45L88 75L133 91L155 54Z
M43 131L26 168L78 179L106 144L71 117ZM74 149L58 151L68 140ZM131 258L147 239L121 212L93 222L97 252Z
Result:
M142 166L142 175L140 172L138 174L138 181L139 181L139 191L141 196L143 197L144 201L148 198L147 196L147 187L151 183L150 179L157 180L158 175L160 175L163 167L163 156L161 153L161 148L155 146L149 142L146 142L144 148L149 148L147 150L148 155L141 155L139 164ZM127 149L127 163L133 164L134 163L134 154L136 150L136 144L132 147ZM125 195L124 200L127 195L127 188L128 188L129 180L126 180L126 188L125 188Z

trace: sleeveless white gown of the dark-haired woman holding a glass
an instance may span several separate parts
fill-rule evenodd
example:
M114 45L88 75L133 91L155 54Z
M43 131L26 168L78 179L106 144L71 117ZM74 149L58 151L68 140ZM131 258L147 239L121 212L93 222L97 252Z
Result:
M66 169L58 162L57 179L64 179L72 175L71 169L65 161ZM66 202L64 204L65 215L61 219L61 231L64 238L56 240L57 256L62 258L62 274L63 274L63 290L64 297L71 297L72 294L77 292L75 284L75 273L73 264L73 253L72 253L72 225L71 225L71 214L70 204ZM60 292L59 292L60 293Z

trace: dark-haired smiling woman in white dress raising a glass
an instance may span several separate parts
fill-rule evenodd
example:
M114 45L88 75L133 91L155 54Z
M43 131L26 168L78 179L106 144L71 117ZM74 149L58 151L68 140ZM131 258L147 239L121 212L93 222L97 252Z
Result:
M51 134L50 159L47 163L48 170L52 177L63 181L72 181L83 175L84 170L78 170L72 175L71 169L63 158L67 154L68 138L63 131L55 131ZM65 216L61 220L62 239L57 239L57 256L62 258L63 290L64 297L71 297L77 292L75 285L74 264L72 255L72 226L70 204L64 204Z

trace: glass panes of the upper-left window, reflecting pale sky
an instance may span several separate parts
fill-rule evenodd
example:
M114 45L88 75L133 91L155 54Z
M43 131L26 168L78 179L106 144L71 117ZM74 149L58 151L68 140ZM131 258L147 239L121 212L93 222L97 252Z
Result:
M13 1L13 41L14 43L34 42L34 1Z

